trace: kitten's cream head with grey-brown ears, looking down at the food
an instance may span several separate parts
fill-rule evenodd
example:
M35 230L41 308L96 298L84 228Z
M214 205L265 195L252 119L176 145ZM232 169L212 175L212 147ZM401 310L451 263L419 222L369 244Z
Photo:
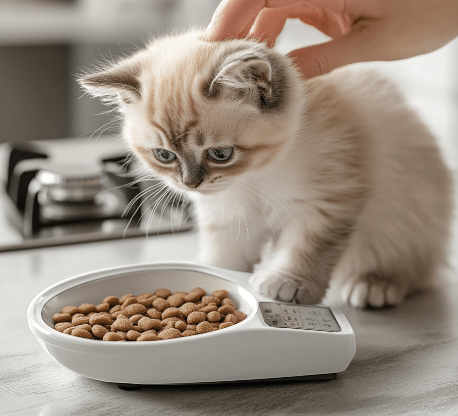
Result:
M118 101L128 145L181 191L210 194L263 171L302 122L297 71L253 40L169 36L79 82Z

